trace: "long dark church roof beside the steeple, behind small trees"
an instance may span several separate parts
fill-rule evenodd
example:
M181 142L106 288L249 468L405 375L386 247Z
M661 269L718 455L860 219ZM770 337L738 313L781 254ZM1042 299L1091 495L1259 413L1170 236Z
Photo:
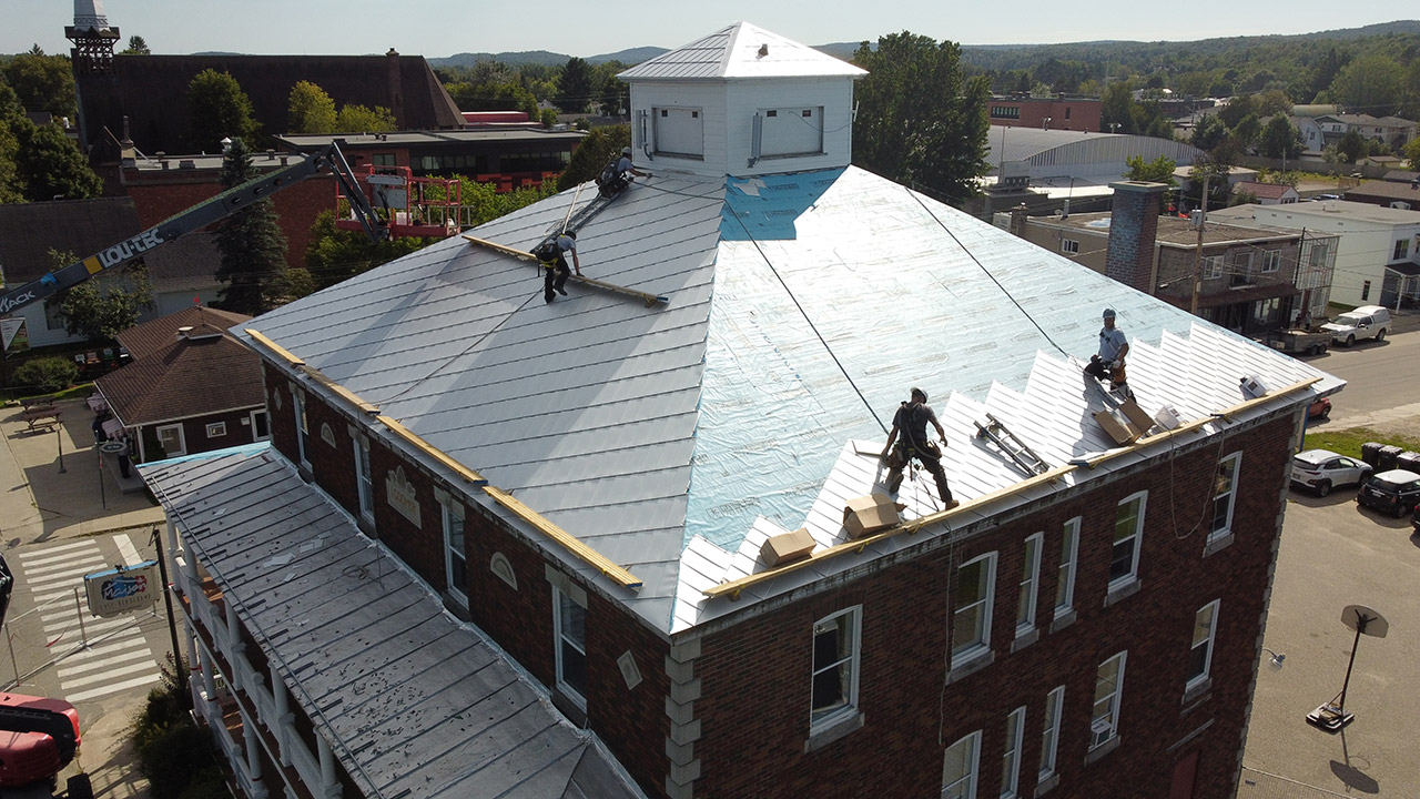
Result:
M80 75L87 144L97 144L104 128L121 136L126 115L142 152L216 152L217 142L190 135L187 84L203 70L236 78L264 134L287 129L291 87L302 80L337 105L389 108L402 129L463 127L459 107L422 55L124 55L114 58L112 75Z

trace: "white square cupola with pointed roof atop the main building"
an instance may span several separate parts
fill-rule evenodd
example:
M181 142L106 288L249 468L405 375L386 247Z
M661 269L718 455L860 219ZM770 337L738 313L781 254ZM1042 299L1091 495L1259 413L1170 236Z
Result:
M626 70L638 166L750 176L848 166L868 73L750 23Z

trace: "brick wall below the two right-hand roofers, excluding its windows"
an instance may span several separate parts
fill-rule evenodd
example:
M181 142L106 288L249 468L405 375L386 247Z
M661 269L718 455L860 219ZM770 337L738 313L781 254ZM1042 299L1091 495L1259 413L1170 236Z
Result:
M1177 455L956 547L937 546L836 590L746 618L706 637L696 660L701 776L696 796L922 796L941 790L946 746L980 729L978 796L1001 788L1007 714L1027 708L1021 793L1032 795L1045 695L1065 685L1056 796L1167 796L1174 765L1200 754L1194 796L1233 795L1245 705L1257 665L1264 590L1277 537L1292 425L1240 432L1223 446ZM1214 465L1242 449L1230 546L1204 556ZM1137 593L1105 607L1115 509L1149 490ZM1082 518L1076 620L1049 631L1064 523ZM1197 525L1204 525L1196 527ZM1017 653L1022 542L1044 532L1039 638ZM994 663L944 685L956 566L998 552ZM1211 691L1183 702L1196 611L1221 600ZM812 626L862 604L859 705L863 728L805 754ZM1086 765L1098 665L1127 650L1119 748ZM939 702L940 698L940 702ZM1180 744L1190 731L1211 725ZM1170 748L1174 748L1170 751Z

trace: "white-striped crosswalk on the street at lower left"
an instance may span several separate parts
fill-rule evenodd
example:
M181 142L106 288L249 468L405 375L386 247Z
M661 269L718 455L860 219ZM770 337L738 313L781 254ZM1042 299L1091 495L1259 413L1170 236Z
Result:
M124 564L142 562L126 535L115 536L114 543ZM75 647L55 668L62 698L81 702L158 682L162 677L159 664L141 627L141 621L152 617L152 613L141 610L99 618L89 614L88 603L81 596L84 574L115 566L105 559L97 540L21 553L18 562L24 574L23 584L36 603L45 641L67 641L54 647L55 651ZM85 641L92 645L82 647Z

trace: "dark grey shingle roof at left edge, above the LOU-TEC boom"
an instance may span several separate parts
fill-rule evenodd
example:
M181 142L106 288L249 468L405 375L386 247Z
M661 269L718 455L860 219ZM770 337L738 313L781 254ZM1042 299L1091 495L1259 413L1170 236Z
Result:
M7 286L50 272L50 250L91 256L138 233L131 198L0 205L0 274Z

